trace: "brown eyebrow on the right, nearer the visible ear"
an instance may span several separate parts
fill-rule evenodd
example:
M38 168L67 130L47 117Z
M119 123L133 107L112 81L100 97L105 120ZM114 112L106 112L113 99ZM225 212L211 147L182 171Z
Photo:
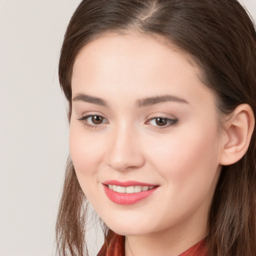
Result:
M154 96L154 97L138 99L136 102L136 105L138 107L142 107L142 106L154 105L154 104L162 103L162 102L166 102L166 101L175 101L175 102L188 104L188 102L183 98L180 98L180 97L177 97L174 95L161 95L161 96Z

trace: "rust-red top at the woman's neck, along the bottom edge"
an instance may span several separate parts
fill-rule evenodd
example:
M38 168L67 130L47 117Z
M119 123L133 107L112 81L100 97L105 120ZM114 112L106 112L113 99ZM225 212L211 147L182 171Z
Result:
M125 256L124 236L109 230L97 256ZM207 256L206 239L203 239L178 256Z

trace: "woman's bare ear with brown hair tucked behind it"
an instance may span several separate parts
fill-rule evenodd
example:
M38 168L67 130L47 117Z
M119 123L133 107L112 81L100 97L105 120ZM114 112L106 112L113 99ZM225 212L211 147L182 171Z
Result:
M220 164L237 162L246 153L254 128L254 115L248 104L238 105L223 124Z

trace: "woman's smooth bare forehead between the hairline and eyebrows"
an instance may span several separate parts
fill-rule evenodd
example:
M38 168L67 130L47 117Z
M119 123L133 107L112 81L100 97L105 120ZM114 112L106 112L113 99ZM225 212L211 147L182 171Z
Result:
M199 79L200 69L188 54L156 36L107 33L78 53L72 75L72 94L126 94L143 97L182 94L199 100L209 89ZM151 96L149 95L149 96ZM178 95L177 95L178 96Z

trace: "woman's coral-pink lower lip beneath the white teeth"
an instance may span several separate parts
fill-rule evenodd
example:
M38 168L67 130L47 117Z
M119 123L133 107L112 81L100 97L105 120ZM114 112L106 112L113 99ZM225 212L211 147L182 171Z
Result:
M146 191L141 191L137 193L119 193L109 189L108 186L104 185L104 190L105 190L106 196L114 203L129 205L129 204L134 204L148 197L157 189L157 187L158 186L152 189L148 189Z

